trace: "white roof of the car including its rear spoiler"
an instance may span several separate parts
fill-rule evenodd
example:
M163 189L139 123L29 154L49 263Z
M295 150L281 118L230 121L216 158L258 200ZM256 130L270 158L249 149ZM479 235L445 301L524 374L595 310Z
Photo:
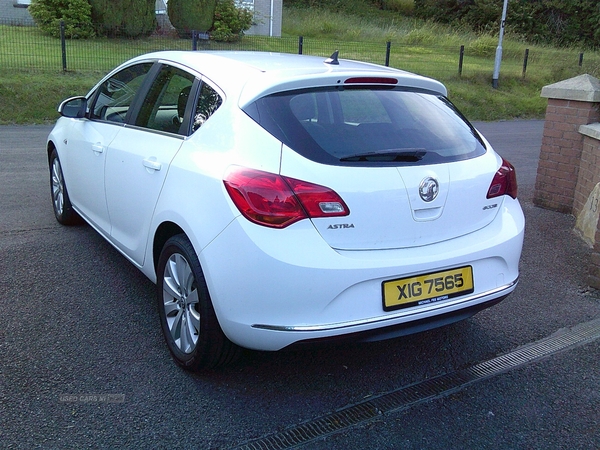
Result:
M337 58L336 58L337 59ZM427 90L447 95L445 86L431 78L399 69L347 59L338 64L327 58L256 51L162 51L138 56L128 63L143 60L165 61L186 66L219 86L243 107L257 98L275 92L310 87L379 84L377 80L395 79L395 86ZM389 84L388 84L389 86Z

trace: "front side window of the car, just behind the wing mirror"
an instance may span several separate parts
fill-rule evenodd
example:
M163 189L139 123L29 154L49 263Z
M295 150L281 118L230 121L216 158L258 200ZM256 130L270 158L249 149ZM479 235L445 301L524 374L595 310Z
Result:
M90 118L124 123L133 99L152 65L143 63L130 66L102 83L95 94Z

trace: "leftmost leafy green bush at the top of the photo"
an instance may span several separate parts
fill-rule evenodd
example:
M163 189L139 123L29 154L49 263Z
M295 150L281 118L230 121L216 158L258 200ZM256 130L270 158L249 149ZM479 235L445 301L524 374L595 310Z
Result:
M87 0L34 0L29 13L45 33L60 37L60 23L65 25L65 37L85 39L94 36L91 6Z

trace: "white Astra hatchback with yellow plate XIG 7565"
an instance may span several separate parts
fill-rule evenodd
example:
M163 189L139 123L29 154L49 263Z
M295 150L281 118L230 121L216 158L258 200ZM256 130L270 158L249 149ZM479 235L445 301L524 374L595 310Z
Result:
M158 52L59 112L56 218L157 284L185 368L426 330L517 284L514 168L437 81L337 54Z

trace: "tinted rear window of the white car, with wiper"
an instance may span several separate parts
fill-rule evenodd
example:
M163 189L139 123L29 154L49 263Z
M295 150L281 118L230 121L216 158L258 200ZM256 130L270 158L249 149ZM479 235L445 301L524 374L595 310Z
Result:
M485 153L452 103L429 92L305 89L260 98L244 111L291 149L324 164L438 164Z

